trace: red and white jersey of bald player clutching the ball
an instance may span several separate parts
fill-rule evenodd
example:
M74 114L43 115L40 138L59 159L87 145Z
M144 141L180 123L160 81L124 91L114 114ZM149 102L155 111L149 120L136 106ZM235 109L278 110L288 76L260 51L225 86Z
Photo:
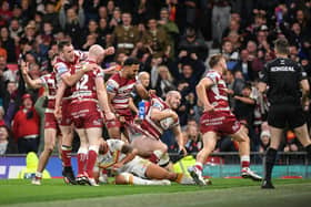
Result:
M146 104L148 105L148 104ZM152 136L154 138L160 138L160 136L163 134L164 128L161 126L160 122L152 121L151 120L151 113L152 110L159 110L159 111L164 111L164 110L170 110L170 106L160 97L158 96L152 96L149 107L146 108L146 117L141 123L141 128L144 132L142 132L147 136ZM177 126L179 124L179 120L177 120L171 127Z

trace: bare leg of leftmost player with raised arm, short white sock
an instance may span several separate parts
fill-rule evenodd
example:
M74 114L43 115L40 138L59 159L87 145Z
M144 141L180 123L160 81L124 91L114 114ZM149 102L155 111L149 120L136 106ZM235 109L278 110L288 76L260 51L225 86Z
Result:
M44 149L39 157L39 164L36 172L36 177L31 182L34 185L41 185L42 172L44 170L48 161L56 146L57 131L53 128L44 130Z

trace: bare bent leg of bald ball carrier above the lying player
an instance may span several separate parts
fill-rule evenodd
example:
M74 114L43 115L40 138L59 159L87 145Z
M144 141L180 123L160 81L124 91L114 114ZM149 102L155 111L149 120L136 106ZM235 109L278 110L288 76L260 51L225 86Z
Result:
M163 164L169 164L168 146L160 139L142 135L134 138L131 145L138 149L139 156L146 157L154 164L158 164L160 159L163 159Z

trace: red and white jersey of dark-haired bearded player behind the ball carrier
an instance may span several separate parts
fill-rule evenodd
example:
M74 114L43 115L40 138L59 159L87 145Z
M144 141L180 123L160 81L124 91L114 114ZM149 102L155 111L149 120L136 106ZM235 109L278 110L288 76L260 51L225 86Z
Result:
M113 74L107 81L107 92L113 94L111 100L112 106L117 112L122 112L129 108L129 99L131 92L136 85L136 79L126 79L121 76L121 73Z

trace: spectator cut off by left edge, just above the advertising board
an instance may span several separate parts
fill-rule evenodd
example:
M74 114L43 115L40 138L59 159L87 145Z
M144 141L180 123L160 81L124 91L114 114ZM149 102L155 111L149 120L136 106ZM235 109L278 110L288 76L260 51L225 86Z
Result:
M8 126L0 125L0 155L17 154L18 148Z

